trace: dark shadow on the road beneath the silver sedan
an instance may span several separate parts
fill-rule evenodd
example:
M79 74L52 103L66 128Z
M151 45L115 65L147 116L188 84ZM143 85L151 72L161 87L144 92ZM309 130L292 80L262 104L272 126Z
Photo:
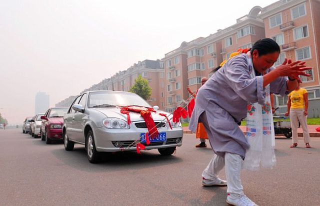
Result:
M173 155L162 156L150 151L123 151L116 153L102 153L99 163L92 164L88 161L84 146L75 147L72 151L66 151L61 145L60 149L53 149L51 153L65 164L82 171L121 171L128 169L140 169L161 165L174 164L183 161L182 158Z

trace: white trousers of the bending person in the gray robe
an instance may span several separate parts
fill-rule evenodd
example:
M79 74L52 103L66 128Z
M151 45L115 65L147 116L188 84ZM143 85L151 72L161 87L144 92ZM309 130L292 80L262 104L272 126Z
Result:
M226 192L232 196L242 195L243 186L240 180L240 170L242 158L238 154L225 152L224 157L214 154L209 164L202 172L205 179L214 180L218 177L218 172L225 165L225 176L227 181Z

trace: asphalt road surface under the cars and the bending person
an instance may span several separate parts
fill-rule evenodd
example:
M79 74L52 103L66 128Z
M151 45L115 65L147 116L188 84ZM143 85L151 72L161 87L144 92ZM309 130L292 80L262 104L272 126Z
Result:
M120 152L91 164L82 145L65 151L21 129L1 129L0 205L227 205L226 187L202 187L212 150L196 143L185 134L172 156ZM276 139L274 169L242 170L244 192L257 204L320 205L320 138L309 149L290 143Z

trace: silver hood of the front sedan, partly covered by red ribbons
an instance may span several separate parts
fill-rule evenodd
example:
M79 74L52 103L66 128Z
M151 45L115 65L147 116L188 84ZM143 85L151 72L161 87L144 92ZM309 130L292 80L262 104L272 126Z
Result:
M127 115L120 112L120 108L93 108L94 110L100 111L101 113L105 114L107 117L114 117L114 118L120 118L123 120L127 120ZM162 121L166 120L164 116L161 116L159 113L165 113L168 118L170 119L172 115L170 113L162 111L162 110L156 110L156 112L151 112L152 118L155 121ZM140 113L130 111L130 120L131 121L143 121L142 116ZM169 116L170 115L170 116Z

